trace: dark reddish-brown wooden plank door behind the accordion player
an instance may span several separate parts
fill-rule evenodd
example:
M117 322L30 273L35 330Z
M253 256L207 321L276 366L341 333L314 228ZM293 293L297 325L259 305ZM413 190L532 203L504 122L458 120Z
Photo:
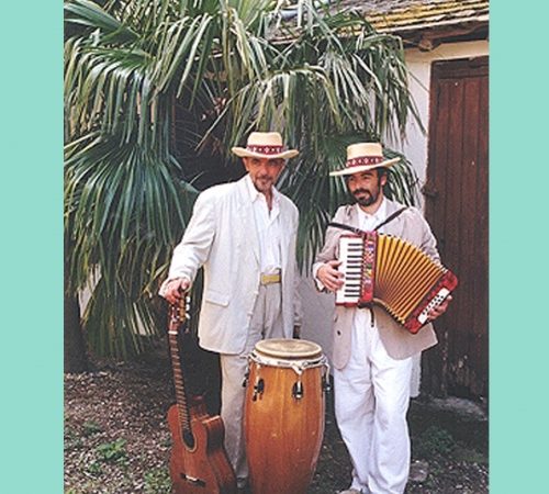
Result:
M488 394L489 76L488 57L436 61L430 86L426 216L440 256L459 278L424 353L424 389Z

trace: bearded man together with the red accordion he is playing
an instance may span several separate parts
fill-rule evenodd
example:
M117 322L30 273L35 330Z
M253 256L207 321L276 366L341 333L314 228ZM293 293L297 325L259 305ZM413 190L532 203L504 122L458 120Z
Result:
M313 266L317 288L337 294L332 360L337 424L354 467L347 494L404 492L412 357L436 345L430 322L457 283L419 211L383 195L397 160L378 143L347 148L345 168L330 176L345 178L356 203L337 210ZM426 294L412 293L433 279Z

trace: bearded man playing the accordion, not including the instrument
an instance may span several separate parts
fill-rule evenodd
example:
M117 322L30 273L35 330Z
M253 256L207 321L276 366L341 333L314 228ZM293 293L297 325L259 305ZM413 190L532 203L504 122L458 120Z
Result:
M429 225L415 207L405 207L383 195L386 168L378 143L347 148L344 169L355 204L339 207L334 222L362 231L391 234L416 245L438 259ZM348 234L330 226L324 248L313 266L317 288L335 292L343 285L339 237ZM429 313L430 321L446 311L448 297ZM410 401L412 356L437 343L433 325L416 335L404 329L381 306L337 306L333 333L333 366L337 425L352 462L352 481L340 494L402 494L410 470L406 411Z

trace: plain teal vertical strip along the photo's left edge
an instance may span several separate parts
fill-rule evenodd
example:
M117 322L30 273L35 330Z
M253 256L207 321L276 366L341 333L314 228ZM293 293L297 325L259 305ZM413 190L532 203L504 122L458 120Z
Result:
M63 492L63 2L2 5L0 492Z

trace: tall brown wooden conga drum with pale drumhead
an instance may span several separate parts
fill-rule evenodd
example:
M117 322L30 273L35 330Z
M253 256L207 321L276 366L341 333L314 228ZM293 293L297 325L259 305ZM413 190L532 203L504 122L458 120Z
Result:
M249 357L246 452L254 494L305 494L324 435L328 364L303 339L264 339Z

